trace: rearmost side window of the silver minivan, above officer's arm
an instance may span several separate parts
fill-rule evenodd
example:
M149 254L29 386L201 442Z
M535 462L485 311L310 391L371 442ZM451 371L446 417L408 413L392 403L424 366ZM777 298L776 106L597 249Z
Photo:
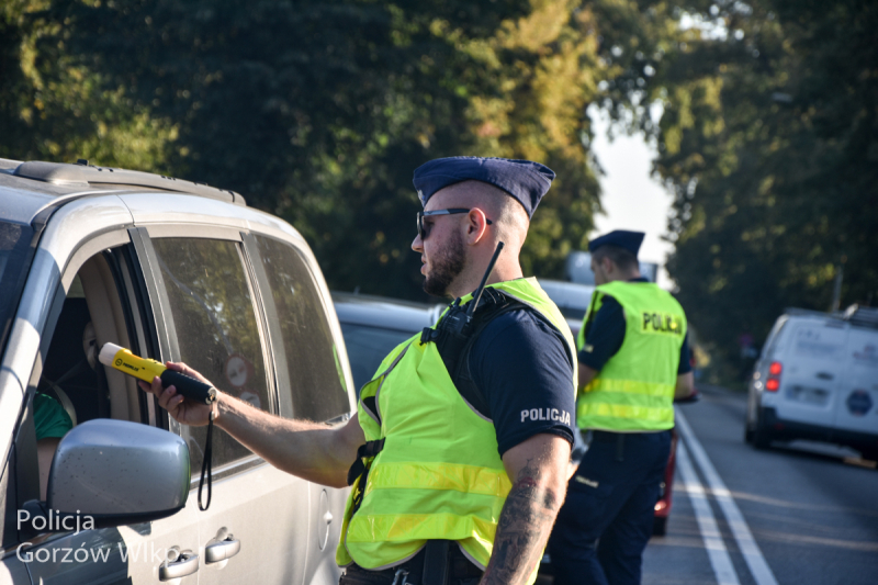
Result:
M256 241L278 312L294 416L329 420L348 413L345 375L311 271L289 244L264 236Z

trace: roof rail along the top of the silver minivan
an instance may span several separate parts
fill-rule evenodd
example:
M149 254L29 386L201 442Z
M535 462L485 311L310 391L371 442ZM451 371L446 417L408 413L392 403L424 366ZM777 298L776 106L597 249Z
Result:
M88 160L81 158L75 165L31 160L19 165L12 175L24 179L34 179L47 183L70 187L79 184L83 187L93 184L148 187L151 189L161 189L164 191L216 199L237 205L247 205L247 201L244 196L235 191L217 189L207 183L175 179L173 177L167 177L165 175L153 175L151 172L111 167L98 167L95 165L89 165Z

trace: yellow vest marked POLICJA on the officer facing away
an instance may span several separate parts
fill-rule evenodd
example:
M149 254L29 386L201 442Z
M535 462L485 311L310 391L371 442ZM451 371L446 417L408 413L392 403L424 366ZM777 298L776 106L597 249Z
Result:
M579 393L576 425L581 429L644 432L674 426L674 387L686 315L669 293L651 282L615 281L595 289L579 330L586 328L605 296L624 312L624 341L597 376ZM587 349L587 348L586 348Z

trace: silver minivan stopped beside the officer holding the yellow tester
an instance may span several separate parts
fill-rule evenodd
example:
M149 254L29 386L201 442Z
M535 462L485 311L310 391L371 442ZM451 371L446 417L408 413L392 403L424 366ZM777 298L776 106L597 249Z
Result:
M205 428L101 365L105 342L283 417L353 409L326 283L290 225L204 184L0 159L0 584L338 583L346 491L216 429L201 511ZM47 461L36 397L72 427Z

